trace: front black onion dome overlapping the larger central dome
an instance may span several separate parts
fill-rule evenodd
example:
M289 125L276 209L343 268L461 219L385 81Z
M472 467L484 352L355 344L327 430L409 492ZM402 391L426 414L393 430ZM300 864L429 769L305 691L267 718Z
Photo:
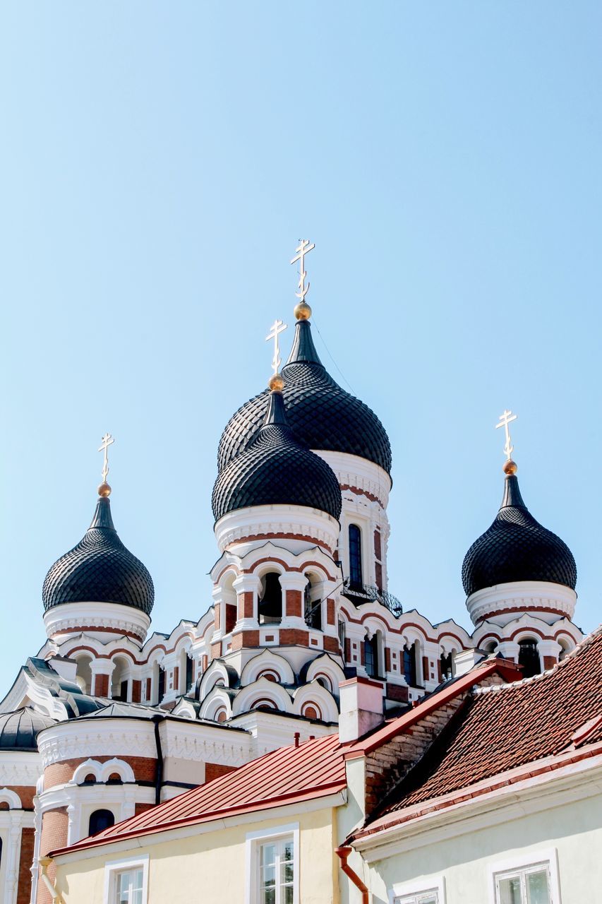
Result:
M256 431L257 432L257 431ZM268 414L245 452L221 470L212 493L216 521L250 505L305 505L341 514L333 469L302 445L287 424L282 392L268 395Z

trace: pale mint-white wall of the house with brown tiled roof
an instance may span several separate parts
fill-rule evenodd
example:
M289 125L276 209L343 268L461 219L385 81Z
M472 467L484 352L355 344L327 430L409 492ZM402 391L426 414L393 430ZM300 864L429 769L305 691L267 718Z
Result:
M389 901L398 883L445 877L446 904L489 904L490 867L532 852L556 849L561 904L602 901L602 795L559 805L534 815L498 811L491 827L466 823L469 833L449 837L391 855L370 865L372 904ZM528 811L528 807L524 807ZM509 818L512 816L512 818ZM416 839L400 845L407 847ZM428 833L424 836L428 842ZM426 881L426 884L428 881ZM594 891L596 890L596 891ZM596 895L600 895L599 898Z

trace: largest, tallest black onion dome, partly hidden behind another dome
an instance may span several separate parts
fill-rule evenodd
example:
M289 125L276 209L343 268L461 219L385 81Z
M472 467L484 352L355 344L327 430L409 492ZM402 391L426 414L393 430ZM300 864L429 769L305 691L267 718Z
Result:
M367 458L390 474L390 442L385 428L367 405L344 391L326 372L307 320L296 323L295 342L282 376L288 423L297 438L312 449ZM221 434L220 471L249 446L267 410L268 391L264 391L232 415Z

